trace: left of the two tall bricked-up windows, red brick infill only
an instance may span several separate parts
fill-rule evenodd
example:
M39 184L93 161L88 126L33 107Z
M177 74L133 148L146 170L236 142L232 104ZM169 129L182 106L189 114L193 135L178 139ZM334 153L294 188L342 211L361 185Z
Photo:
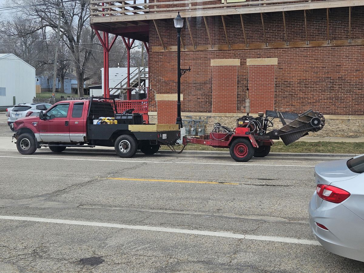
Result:
M212 112L236 113L237 66L212 67Z

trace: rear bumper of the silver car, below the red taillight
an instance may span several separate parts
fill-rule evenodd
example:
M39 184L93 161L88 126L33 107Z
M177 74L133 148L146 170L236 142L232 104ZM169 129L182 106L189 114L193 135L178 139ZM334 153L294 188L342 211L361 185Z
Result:
M323 247L339 256L364 262L364 221L341 204L322 201L316 207L316 192L309 204L309 223ZM318 227L320 223L328 228Z

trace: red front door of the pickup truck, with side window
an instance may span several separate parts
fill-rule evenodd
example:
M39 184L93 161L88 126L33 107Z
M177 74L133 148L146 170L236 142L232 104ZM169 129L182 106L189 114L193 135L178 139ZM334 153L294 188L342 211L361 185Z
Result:
M70 143L70 103L59 103L39 119L39 135L44 142Z

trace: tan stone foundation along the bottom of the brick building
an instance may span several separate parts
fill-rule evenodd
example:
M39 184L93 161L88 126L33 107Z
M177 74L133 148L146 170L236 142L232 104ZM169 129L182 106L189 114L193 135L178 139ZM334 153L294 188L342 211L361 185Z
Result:
M199 114L199 115L197 115ZM213 129L214 123L221 123L229 128L236 126L236 119L244 114L217 114L217 113L182 113L182 119L203 119L206 120L205 125L206 134ZM253 115L257 116L257 115ZM344 115L325 115L325 127L318 132L310 132L308 137L325 137L325 138L359 138L364 137L364 116L344 116ZM157 112L149 113L149 122L157 123ZM282 123L279 119L273 120L273 128L281 128Z

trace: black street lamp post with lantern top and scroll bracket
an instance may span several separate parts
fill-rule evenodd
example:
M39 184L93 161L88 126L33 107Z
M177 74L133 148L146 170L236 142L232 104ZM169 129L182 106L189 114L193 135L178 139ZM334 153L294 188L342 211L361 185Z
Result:
M187 71L191 71L191 68L181 69L181 28L183 27L183 18L178 15L173 19L174 27L177 28L177 119L176 124L182 128L182 117L181 117L181 76Z

